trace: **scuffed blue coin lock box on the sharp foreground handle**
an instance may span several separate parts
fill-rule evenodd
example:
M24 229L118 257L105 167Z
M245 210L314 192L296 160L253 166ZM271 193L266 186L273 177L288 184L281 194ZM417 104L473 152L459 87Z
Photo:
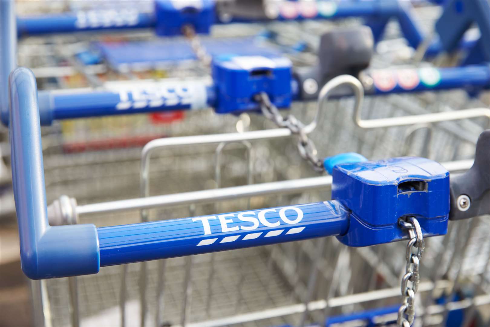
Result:
M449 215L449 172L425 158L401 157L336 165L332 200L351 210L337 238L362 247L407 239L400 217L415 216L424 237L444 235Z

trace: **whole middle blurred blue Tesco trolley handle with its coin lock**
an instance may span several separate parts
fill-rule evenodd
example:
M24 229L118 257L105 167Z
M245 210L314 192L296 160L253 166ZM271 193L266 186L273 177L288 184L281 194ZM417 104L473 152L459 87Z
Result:
M265 72L262 76L254 72ZM215 108L217 113L237 113L260 110L253 96L266 92L272 103L287 108L292 100L316 100L319 87L308 92L312 79L321 85L318 77L294 73L290 69L244 70L216 74L214 84L204 80L152 82L149 84L110 87L114 90L40 91L39 114L41 125L53 120L108 115L125 115L155 111L200 110ZM237 75L234 75L237 74ZM372 82L363 85L367 94L385 95L432 90L466 88L478 90L490 86L490 65L455 68L420 68L370 71ZM289 85L288 85L289 84ZM147 85L147 86L145 86ZM116 90L118 88L119 90ZM349 89L339 89L333 95L348 96ZM2 122L8 126L8 107L2 108Z

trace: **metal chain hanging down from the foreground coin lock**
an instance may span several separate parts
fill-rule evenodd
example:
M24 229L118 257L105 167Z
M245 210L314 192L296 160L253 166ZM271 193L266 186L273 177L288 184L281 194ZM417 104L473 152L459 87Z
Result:
M422 229L415 217L408 217L406 221L400 219L398 224L408 230L410 240L405 253L405 259L407 260L405 275L401 278L401 295L404 299L398 309L396 325L398 327L410 327L415 319L415 294L420 281L420 260L424 253L425 243L422 237ZM412 253L414 247L417 248L417 254ZM409 281L412 282L412 286L408 285Z

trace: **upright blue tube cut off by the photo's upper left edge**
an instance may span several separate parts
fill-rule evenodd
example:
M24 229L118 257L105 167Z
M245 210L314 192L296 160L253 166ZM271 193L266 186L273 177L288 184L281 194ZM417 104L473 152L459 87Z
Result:
M8 75L16 66L17 37L15 34L13 0L0 1L0 118L8 125Z

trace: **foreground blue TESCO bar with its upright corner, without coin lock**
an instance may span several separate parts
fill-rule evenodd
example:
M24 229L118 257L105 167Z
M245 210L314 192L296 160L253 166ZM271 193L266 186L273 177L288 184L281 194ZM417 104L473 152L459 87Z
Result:
M100 266L341 235L349 211L338 201L125 226L49 226L36 80L9 76L12 180L21 264L32 279L95 274Z

